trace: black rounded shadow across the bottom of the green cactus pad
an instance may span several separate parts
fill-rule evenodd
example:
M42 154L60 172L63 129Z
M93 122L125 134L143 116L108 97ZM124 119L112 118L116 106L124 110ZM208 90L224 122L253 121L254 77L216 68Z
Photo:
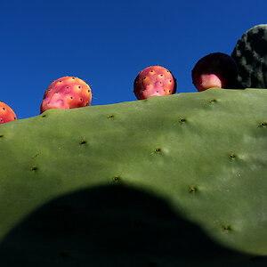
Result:
M215 244L162 199L121 185L40 207L6 236L0 258L9 267L267 265Z

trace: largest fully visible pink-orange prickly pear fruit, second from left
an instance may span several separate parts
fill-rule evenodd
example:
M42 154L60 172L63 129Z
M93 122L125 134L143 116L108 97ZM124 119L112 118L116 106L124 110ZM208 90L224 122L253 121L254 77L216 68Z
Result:
M78 77L61 77L44 92L41 113L47 109L76 109L90 106L92 91L85 81Z

